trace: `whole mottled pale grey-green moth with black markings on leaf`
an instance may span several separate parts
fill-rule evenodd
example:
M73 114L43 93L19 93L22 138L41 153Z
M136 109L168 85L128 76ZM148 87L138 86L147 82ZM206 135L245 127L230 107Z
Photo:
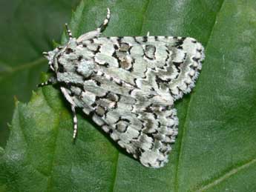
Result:
M190 37L100 37L111 18L108 9L96 30L44 52L54 76L41 86L58 84L73 112L93 119L142 165L160 168L178 130L174 102L191 92L204 59L203 46Z

